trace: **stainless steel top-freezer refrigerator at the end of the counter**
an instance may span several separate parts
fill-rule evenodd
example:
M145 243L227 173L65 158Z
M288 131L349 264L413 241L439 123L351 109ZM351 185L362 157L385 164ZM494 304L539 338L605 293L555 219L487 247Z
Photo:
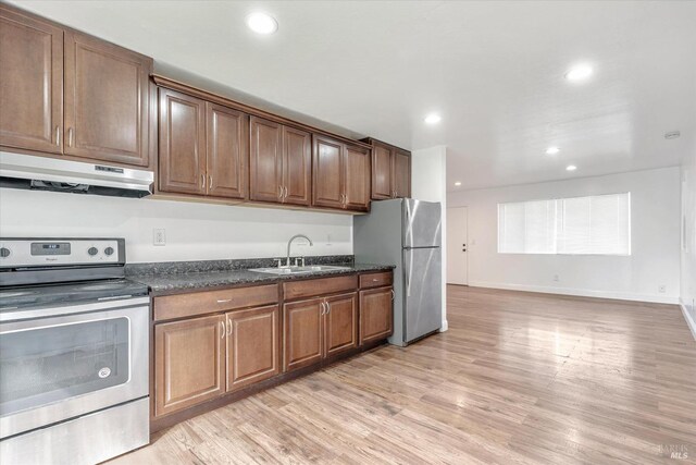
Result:
M356 261L396 265L391 344L407 345L442 326L440 237L439 203L373 201L370 215L355 217Z

